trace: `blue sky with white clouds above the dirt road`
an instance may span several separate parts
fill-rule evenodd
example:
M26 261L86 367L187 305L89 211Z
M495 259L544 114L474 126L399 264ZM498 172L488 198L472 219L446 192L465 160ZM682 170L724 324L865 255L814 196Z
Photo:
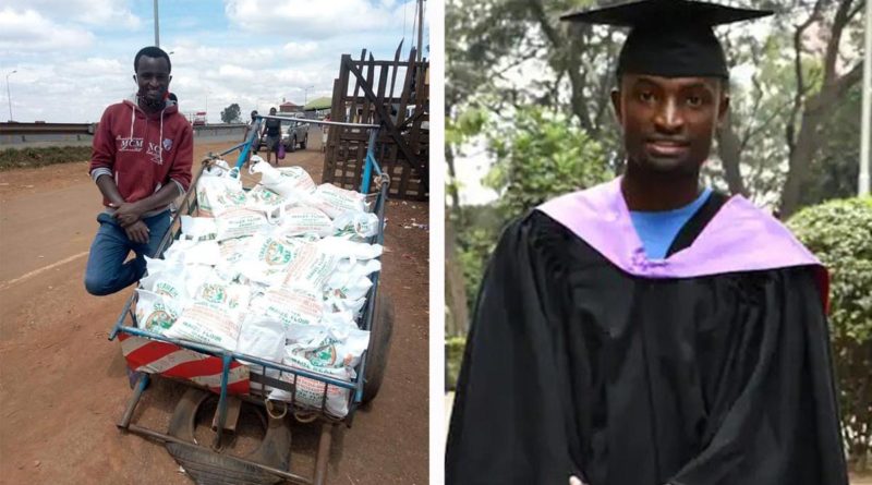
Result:
M0 83L15 121L99 121L131 95L136 51L154 45L153 0L3 0ZM424 46L428 44L427 13ZM160 47L183 112L232 102L243 114L282 98L330 96L343 53L404 57L416 39L414 0L159 0ZM429 57L428 51L424 51ZM307 93L307 87L311 87ZM9 119L1 93L0 120ZM208 105L208 106L207 106Z

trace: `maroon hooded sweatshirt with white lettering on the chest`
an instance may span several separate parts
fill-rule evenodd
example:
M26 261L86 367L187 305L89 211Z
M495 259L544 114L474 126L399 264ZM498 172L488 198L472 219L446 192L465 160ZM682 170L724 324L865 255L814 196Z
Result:
M191 184L194 131L173 102L157 113L146 114L133 100L106 108L94 135L90 177L114 179L125 202L148 197L168 183L184 194ZM104 198L108 211L109 201ZM158 214L166 207L144 217Z

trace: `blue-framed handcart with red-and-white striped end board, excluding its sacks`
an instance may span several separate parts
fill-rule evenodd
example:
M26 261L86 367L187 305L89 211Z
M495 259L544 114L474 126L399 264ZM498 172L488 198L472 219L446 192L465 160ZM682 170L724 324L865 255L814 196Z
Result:
M378 232L370 238L370 243L384 243L385 204L387 202L389 178L382 173L375 159L375 141L379 125L342 123L304 118L287 118L262 116L257 117L249 132L246 140L227 151L210 156L204 160L191 189L185 194L177 214L173 217L170 230L165 235L158 250L162 254L173 240L181 233L181 215L193 215L197 208L196 182L217 157L229 155L239 150L239 157L233 170L241 170L249 160L251 148L259 132L261 123L266 119L292 119L316 125L344 126L352 130L368 130L370 138L366 153L366 163L361 181L361 193L366 194L371 202L370 210L378 217ZM373 182L373 183L371 183ZM374 190L370 191L370 186ZM118 427L122 432L135 433L148 438L165 442L168 451L179 461L185 472L201 484L275 484L291 482L299 484L324 484L327 476L327 461L330 450L331 433L337 424L343 423L351 426L355 410L372 401L382 385L382 379L387 364L387 354L390 347L390 337L393 326L393 307L387 295L379 292L379 275L372 276L373 286L368 291L366 303L358 317L356 324L363 330L370 331L370 343L355 367L356 377L350 381L327 377L304 369L290 367L280 363L266 361L252 355L231 352L226 349L167 338L140 328L133 306L136 303L134 293L125 303L118 318L109 340L121 340L122 351L132 371L137 374L133 384L131 397ZM213 368L215 374L208 377L190 378L177 372L178 367L164 369L160 366L144 363L140 354L150 351L159 355L186 354L194 355L193 361L202 368ZM192 354L193 353L193 354ZM153 375L182 381L191 386L175 408L170 420L167 433L150 429L133 423L132 417L143 392L148 386ZM218 378L219 376L219 378ZM247 379L246 379L247 377ZM291 401L274 405L274 401L266 400L269 389L280 389L290 393ZM303 405L298 401L301 388L312 390L313 386L320 388L324 397L319 407ZM349 412L342 417L328 414L326 401L328 392L340 389L348 390ZM197 410L206 402L214 403L217 398L216 412L213 421L215 436L210 446L202 446L194 438L195 419ZM256 405L266 410L266 416L261 414L265 436L261 446L245 457L235 457L225 449L228 435L235 426L242 403ZM315 456L315 465L311 475L304 475L291 465L291 432L290 416L298 421L320 424L320 437Z

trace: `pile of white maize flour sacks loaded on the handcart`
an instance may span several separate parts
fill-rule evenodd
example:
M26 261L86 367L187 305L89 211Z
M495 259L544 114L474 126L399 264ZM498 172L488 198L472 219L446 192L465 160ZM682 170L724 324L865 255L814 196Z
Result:
M355 318L380 270L382 246L363 242L378 218L358 192L252 158L251 172L263 177L247 193L222 161L203 173L198 217L182 216L182 238L164 259L147 260L136 320L166 337L348 381L370 341ZM298 378L296 389L294 402L320 409L324 384ZM348 392L329 386L327 412L348 414Z

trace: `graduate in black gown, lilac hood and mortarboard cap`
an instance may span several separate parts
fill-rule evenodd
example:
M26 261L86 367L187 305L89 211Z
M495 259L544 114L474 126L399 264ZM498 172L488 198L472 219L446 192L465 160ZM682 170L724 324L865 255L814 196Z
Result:
M613 104L625 174L502 233L458 381L446 483L846 485L826 270L700 187L729 108L712 26L767 12L647 0Z

